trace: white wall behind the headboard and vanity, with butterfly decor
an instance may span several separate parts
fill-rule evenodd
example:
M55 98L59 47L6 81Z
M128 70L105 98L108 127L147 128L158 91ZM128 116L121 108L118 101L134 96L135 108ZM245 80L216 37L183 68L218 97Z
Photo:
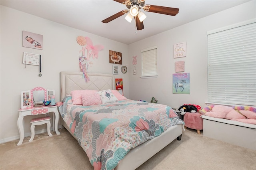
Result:
M77 36L87 36L95 44L104 45L98 59L90 59L93 66L89 72L112 74L109 50L122 52L122 65L128 65L128 45L115 42L88 32L83 32L49 20L38 18L5 6L1 6L1 110L0 142L18 139L18 109L21 107L21 91L41 86L54 89L56 101L60 100L60 71L79 71L78 56L82 46L76 42ZM43 50L22 47L22 31L43 35ZM42 77L39 66L22 64L23 52L42 55ZM121 65L119 65L121 66ZM123 78L124 96L129 98L129 76ZM30 134L30 119L25 119L25 134ZM43 126L43 125L42 125ZM45 128L45 127L42 127ZM36 130L40 127L36 127Z

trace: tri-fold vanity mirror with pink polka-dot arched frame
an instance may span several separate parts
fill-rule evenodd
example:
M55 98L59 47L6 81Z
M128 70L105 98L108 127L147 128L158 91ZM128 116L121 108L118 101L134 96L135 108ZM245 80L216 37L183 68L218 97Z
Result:
M55 96L54 90L47 90L43 87L35 87L29 91L21 92L21 109L43 106L43 103L50 101Z

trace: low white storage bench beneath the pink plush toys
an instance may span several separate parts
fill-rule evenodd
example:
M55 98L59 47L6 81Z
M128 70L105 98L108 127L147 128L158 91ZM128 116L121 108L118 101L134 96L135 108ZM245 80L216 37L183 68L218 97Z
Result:
M203 118L203 136L256 150L256 125L219 119Z

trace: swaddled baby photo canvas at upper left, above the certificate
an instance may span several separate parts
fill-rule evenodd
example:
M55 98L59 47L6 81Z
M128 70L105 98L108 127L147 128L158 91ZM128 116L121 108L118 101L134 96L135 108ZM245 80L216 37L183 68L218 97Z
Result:
M43 49L43 36L32 32L23 31L23 47Z

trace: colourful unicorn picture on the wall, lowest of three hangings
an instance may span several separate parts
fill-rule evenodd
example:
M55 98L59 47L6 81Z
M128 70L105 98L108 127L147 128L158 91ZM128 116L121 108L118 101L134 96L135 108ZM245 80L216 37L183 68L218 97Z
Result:
M190 94L190 73L172 74L172 93Z

